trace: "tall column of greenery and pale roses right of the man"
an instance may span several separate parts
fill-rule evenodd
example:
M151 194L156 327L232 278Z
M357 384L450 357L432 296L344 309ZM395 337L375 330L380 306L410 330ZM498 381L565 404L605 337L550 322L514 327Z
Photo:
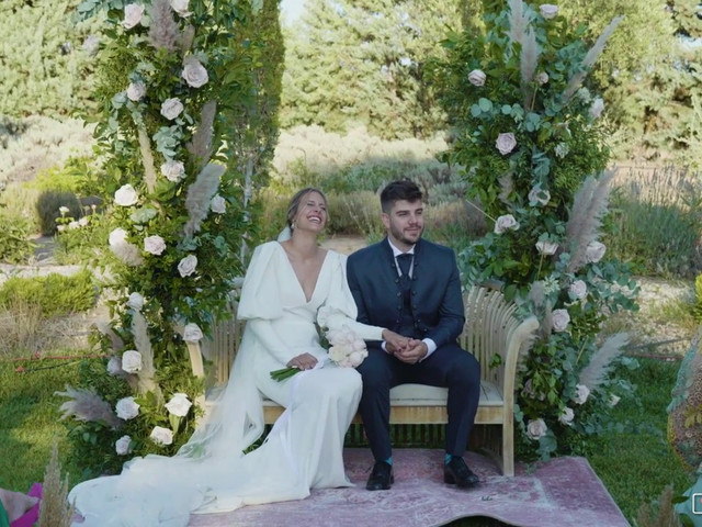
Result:
M562 15L498 3L482 30L450 35L432 78L454 126L444 157L465 167L491 231L458 253L464 279L502 282L541 323L520 365L516 421L545 459L608 426L605 372L621 348L605 354L597 337L609 313L636 309L637 288L598 242L609 149L602 100L582 82L603 41L588 49L585 27Z

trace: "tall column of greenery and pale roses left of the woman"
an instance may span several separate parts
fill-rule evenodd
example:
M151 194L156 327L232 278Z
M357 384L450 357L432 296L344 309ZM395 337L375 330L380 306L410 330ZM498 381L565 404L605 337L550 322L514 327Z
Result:
M101 265L114 292L112 319L95 345L116 361L115 378L97 382L109 377L102 365L81 382L97 386L95 396L111 407L124 397L139 405L118 434L73 415L71 437L94 471L117 470L133 456L172 455L193 431L199 408L179 417L165 405L176 394L190 402L203 394L184 338L204 338L226 313L245 249L259 239L251 200L268 179L278 135L276 2L191 0L186 16L168 0L139 5L144 13L126 16L133 24L123 23L122 0L84 0L78 8L107 23L97 56L101 112L91 117L102 162L75 168L97 189L91 193L111 199L104 216L98 211L78 225L78 216L61 217L59 244L92 251L91 237L109 240ZM141 357L136 373L120 366L126 351ZM156 427L172 434L172 442L155 439ZM115 441L125 436L129 448L120 455Z

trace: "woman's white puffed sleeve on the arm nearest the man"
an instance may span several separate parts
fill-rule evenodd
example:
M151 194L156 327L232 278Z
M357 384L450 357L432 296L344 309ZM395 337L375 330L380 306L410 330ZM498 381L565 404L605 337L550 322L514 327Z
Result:
M382 340L383 327L356 321L358 310L346 276L347 257L338 253L330 257L336 258L331 284L326 302L317 312L317 324L329 329L339 329L346 325L363 340Z

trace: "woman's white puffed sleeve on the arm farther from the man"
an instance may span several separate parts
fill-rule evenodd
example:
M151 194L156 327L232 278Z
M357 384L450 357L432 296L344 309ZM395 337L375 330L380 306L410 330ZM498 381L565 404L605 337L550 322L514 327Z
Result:
M275 242L271 242L254 249L241 287L237 317L248 321L246 330L252 332L263 348L285 365L290 358L290 347L271 324L271 321L283 316L274 244Z

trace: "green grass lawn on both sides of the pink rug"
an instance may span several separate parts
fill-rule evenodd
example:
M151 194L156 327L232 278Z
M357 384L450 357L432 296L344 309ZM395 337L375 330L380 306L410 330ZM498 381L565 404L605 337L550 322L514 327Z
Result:
M622 372L637 386L638 400L622 400L614 408L630 431L610 433L590 444L590 464L633 523L643 503L656 500L667 484L679 494L691 484L666 441L666 406L678 372L678 361L639 359L641 368ZM18 366L25 371L15 371ZM67 459L70 444L58 421L63 391L77 378L73 361L0 361L0 486L25 491L43 481L54 440L60 459ZM626 427L625 427L626 428ZM71 467L63 462L63 471ZM80 474L70 473L71 484ZM487 527L502 525L488 518L454 522L452 526Z

